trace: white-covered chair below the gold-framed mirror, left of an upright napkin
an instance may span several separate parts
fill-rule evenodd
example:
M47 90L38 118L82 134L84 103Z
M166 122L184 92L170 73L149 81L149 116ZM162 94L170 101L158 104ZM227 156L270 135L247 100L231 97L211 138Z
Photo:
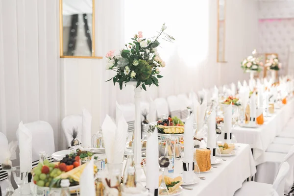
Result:
M71 143L73 140L73 128L77 130L78 132L76 139L79 142L82 141L82 122L83 122L82 115L69 115L62 120L61 126L63 129L63 133L65 135L68 147L72 146Z

